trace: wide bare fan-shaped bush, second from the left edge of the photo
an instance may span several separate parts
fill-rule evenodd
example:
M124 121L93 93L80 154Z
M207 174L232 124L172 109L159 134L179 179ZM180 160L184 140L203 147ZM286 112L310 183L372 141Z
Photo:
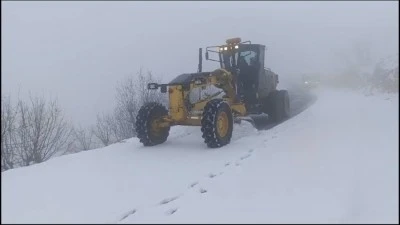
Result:
M30 97L30 104L18 102L17 128L19 157L24 166L48 160L66 147L71 127L57 101Z

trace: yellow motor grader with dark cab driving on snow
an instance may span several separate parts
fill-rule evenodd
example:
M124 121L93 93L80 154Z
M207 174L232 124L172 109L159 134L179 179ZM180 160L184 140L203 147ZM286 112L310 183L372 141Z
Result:
M217 58L210 58L210 53ZM289 95L277 90L278 75L264 68L265 46L240 38L206 48L205 58L220 68L202 72L202 48L197 73L177 76L168 84L149 83L148 89L169 95L169 107L144 104L136 117L137 137L144 146L164 143L171 126L200 126L210 148L227 145L234 122L255 117L280 122L289 117ZM214 88L213 93L202 91ZM193 94L197 98L193 100Z

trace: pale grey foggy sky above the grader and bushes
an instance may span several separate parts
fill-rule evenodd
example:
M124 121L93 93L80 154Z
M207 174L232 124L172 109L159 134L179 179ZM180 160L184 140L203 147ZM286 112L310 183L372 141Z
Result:
M167 82L197 70L199 47L232 37L265 44L280 76L335 71L355 43L375 58L398 53L398 4L2 1L2 95L57 97L75 123L90 125L141 66Z

